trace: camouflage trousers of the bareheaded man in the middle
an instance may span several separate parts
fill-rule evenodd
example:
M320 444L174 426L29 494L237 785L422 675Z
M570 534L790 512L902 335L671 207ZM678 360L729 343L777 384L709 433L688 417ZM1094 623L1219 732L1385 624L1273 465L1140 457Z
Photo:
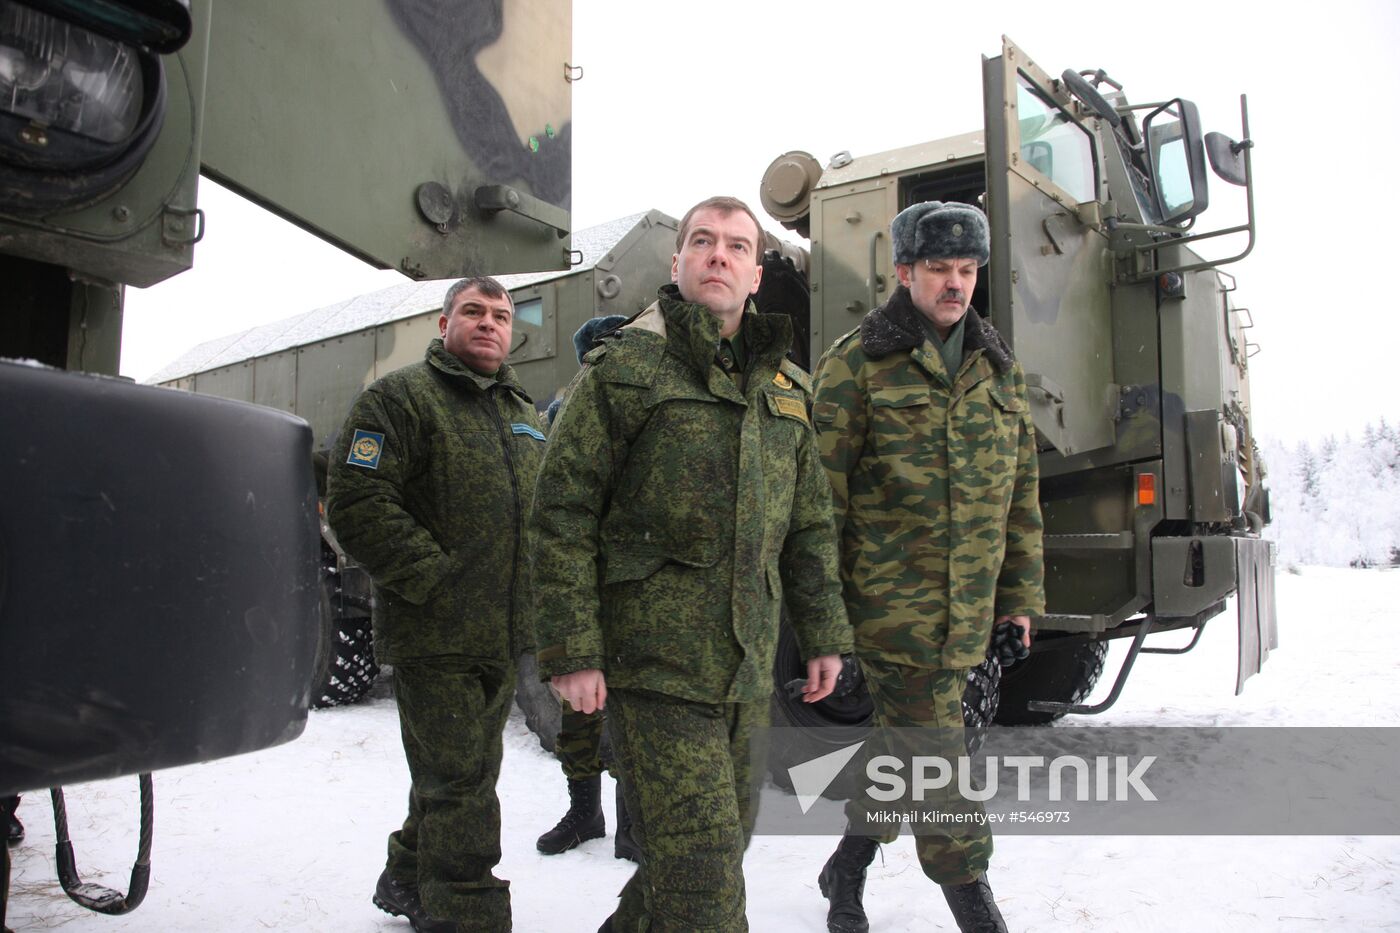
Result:
M769 723L769 703L693 703L616 689L608 693L608 717L643 852L613 930L748 930L743 850L762 780L762 768L750 768L750 747Z

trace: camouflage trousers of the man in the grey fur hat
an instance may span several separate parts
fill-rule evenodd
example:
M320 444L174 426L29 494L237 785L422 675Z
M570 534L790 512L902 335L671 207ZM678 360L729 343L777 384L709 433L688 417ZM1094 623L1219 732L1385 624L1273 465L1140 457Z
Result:
M867 762L876 755L895 755L904 762L913 754L937 755L946 761L966 755L962 713L966 670L907 667L858 657L865 685L875 702L876 731L862 749ZM882 734L881 730L893 733ZM909 773L907 765L904 773ZM983 814L981 820L951 824L946 829L921 827L914 832L914 850L924 874L938 884L966 884L987 870L991 860L991 831L986 824L986 810L980 803L959 796L956 780L949 782L945 789L930 792L917 808L946 814ZM900 824L879 821L869 815L872 810L879 810L879 806L862 799L848 800L847 831L885 845L895 842Z

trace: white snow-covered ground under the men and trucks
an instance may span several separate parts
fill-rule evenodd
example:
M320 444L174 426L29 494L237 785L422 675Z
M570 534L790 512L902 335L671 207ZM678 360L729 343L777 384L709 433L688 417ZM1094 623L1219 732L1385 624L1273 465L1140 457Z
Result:
M1081 724L1400 726L1400 572L1281 573L1278 614L1280 649L1242 696L1232 695L1231 611L1193 653L1140 658L1119 705ZM512 883L515 929L591 933L631 864L612 857L610 836L539 856L535 838L563 813L564 782L519 716L505 748L497 873ZM20 807L28 838L13 852L8 925L17 933L407 933L407 923L370 904L406 792L392 700L314 713L290 745L160 772L151 890L122 918L87 913L63 895L48 799L29 794ZM67 797L84 878L125 890L136 779L70 787ZM750 929L826 929L816 873L832 843L755 838L745 863ZM990 873L1008 926L1022 933L1400 930L1397 876L1396 836L1000 836ZM867 906L881 933L955 929L907 836L876 859Z

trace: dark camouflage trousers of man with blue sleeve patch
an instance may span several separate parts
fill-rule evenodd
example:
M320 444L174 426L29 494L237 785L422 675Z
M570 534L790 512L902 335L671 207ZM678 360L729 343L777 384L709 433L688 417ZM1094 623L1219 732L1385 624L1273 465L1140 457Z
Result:
M461 930L511 929L501 860L501 730L515 670L462 657L393 665L403 752L413 786L403 828L389 836L389 877L416 883L433 919Z

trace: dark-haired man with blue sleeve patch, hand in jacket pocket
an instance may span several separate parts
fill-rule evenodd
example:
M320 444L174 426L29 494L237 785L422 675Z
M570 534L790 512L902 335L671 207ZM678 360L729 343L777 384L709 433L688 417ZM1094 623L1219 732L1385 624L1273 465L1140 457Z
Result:
M512 318L494 279L455 283L442 336L360 395L330 455L328 517L375 583L374 651L393 665L413 779L374 902L420 932L511 929L496 779L533 644L524 537L545 450L505 364Z

